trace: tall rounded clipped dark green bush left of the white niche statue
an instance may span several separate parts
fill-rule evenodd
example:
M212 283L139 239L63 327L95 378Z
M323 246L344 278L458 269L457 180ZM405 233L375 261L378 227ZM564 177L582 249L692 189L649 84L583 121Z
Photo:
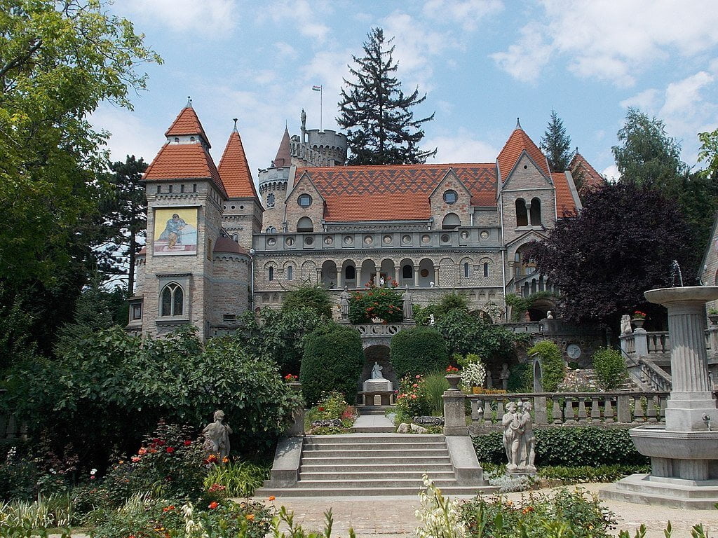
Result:
M307 403L318 402L323 391L331 390L355 402L363 361L361 338L355 329L332 323L309 334L299 370Z

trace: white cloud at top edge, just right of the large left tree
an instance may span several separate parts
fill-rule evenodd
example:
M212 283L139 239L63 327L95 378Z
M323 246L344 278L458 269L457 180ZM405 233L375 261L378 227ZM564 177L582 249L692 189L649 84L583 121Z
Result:
M175 32L191 30L208 37L233 29L238 16L236 0L124 0L116 9Z

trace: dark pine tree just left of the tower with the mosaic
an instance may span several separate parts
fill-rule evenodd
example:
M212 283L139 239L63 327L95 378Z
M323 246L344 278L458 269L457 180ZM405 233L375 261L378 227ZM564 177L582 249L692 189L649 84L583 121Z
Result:
M112 237L104 246L111 257L111 265L105 268L107 273L118 275L124 280L130 295L134 291L134 272L136 256L142 243L138 241L146 236L147 199L142 174L147 164L135 156L127 156L125 161L108 164L110 192L105 203L101 204L101 214L106 219Z

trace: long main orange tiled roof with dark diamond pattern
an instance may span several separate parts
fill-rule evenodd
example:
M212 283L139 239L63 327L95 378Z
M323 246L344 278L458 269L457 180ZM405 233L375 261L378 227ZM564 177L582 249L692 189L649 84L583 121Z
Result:
M429 194L449 169L469 189L475 206L496 205L494 164L398 164L297 169L309 175L326 201L327 222L426 220Z

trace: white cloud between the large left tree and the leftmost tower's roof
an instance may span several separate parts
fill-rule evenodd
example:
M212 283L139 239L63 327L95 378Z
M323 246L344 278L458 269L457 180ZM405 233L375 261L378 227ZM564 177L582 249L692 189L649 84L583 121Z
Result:
M104 104L90 117L90 123L97 129L109 131L111 137L108 149L113 161L124 161L128 155L144 158L150 163L164 143L164 131L157 126L148 126L130 110ZM169 126L169 123L167 124Z

